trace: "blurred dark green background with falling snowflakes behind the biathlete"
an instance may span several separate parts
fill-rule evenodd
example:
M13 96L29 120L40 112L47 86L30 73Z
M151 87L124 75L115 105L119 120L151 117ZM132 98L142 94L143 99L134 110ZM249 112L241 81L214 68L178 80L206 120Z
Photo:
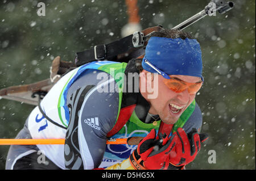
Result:
M38 16L39 2L46 16ZM196 2L196 3L195 3ZM142 28L172 28L208 1L139 1ZM185 31L201 44L205 83L197 95L202 132L210 135L187 169L255 169L255 1L234 0L224 15L207 17ZM125 0L0 2L0 89L49 78L54 57L121 38L128 21ZM0 138L14 138L34 106L0 100ZM0 169L9 146L0 146ZM208 163L209 150L216 163Z

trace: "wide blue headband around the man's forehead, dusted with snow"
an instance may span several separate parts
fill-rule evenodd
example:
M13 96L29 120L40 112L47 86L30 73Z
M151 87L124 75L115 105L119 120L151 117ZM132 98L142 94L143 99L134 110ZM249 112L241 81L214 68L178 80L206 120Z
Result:
M168 75L202 76L202 57L196 39L151 37L142 61L144 70Z

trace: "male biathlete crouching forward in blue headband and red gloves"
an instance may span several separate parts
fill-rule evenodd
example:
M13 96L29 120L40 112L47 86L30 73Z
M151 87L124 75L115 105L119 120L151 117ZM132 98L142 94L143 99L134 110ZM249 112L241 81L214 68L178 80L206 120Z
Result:
M202 84L196 39L154 32L143 59L94 61L65 74L16 136L65 138L65 145L12 145L6 169L183 169L208 138L199 134L195 102ZM135 136L144 137L138 146L106 145Z

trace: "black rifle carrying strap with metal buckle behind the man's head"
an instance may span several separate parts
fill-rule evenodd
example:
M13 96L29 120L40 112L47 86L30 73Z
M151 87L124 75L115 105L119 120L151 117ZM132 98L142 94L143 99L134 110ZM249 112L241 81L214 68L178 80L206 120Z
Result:
M81 66L95 60L128 62L131 58L137 58L144 54L144 47L147 44L145 37L152 32L159 31L161 28L160 26L147 28L112 43L96 45L91 49L77 52L75 64Z

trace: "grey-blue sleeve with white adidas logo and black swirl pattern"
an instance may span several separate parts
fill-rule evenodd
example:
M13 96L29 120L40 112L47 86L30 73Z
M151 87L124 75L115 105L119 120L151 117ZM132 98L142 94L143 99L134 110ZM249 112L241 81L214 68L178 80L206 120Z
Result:
M98 76L103 73L107 78ZM104 156L106 135L114 127L119 94L111 75L86 70L68 91L69 125L64 157L67 169L97 168ZM113 90L114 89L114 90Z

